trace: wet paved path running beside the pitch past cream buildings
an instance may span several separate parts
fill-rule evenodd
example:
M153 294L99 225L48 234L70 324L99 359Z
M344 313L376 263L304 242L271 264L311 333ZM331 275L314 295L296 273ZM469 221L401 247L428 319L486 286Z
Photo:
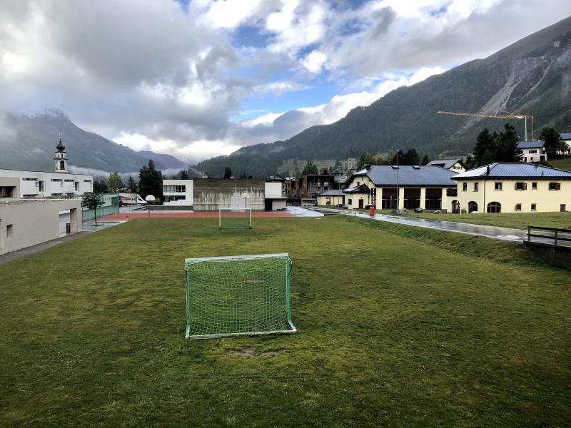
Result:
M446 232L485 236L486 238L507 240L512 242L521 243L527 240L527 230L522 230L522 229L501 228L498 226L486 226L486 225L473 225L470 223L457 223L453 221L429 220L426 218L410 218L410 217L401 217L398 215L385 215L385 214L375 214L375 217L373 218L366 213L360 213L355 210L335 210L333 208L311 208L311 209L318 210L319 212L322 213L335 212L343 215L351 215L360 218L369 218L371 220L386 221L388 223L397 223L400 225L414 226L416 228L445 230ZM533 240L534 242L540 242L540 243L550 243L550 244L553 243L553 240L547 240L542 238L534 238ZM571 245L570 242L565 243L565 241L560 241L560 244Z

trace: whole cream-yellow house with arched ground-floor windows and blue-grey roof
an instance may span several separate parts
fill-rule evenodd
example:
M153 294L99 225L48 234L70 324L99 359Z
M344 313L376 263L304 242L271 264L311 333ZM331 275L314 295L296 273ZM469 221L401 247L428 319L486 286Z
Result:
M571 172L533 163L492 163L455 175L460 209L468 213L565 211Z

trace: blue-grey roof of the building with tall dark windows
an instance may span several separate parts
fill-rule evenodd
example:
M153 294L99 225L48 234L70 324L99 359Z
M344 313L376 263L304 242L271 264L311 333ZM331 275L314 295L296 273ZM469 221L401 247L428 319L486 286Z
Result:
M375 185L456 185L455 172L433 165L373 165L367 176Z

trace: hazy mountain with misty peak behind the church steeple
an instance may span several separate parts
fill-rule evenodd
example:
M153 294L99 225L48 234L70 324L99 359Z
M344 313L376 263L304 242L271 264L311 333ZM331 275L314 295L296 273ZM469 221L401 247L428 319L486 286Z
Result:
M159 169L184 169L188 164L173 156L133 151L71 123L61 111L36 116L0 113L0 168L46 170L54 168L54 151L62 133L70 167L129 173L153 159ZM73 169L72 169L73 170Z

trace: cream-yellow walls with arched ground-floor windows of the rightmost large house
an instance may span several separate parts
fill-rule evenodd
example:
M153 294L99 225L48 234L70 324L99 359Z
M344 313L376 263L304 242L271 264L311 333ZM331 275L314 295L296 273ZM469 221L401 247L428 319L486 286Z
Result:
M532 213L571 209L571 180L562 178L458 179L460 210ZM498 211L499 210L499 211Z

